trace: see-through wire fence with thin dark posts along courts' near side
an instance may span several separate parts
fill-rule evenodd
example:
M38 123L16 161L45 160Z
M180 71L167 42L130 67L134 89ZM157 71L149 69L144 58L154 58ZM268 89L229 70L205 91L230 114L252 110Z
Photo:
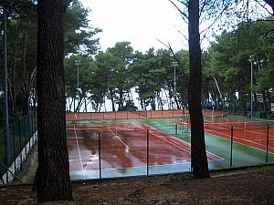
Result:
M210 145L209 143L206 145L207 157L216 158L208 159L210 169L237 168L274 162L273 125L262 125L259 128L248 127L247 124L245 126L235 127L228 125L205 128L206 133L211 135L217 133L219 137L226 136L225 139L227 139L225 140L227 141L226 145ZM172 125L172 127L143 130L131 130L131 128L107 128L108 130L105 128L68 128L68 132L76 132L78 140L83 143L79 147L86 148L85 151L70 150L70 159L75 160L75 156L79 155L80 152L87 153L90 151L91 153L90 159L85 159L85 157L81 159L81 163L83 163L82 169L77 170L77 168L73 167L73 162L71 162L72 173L79 175L77 172L84 169L93 172L94 179L103 179L190 171L190 146L180 148L178 144L180 139L190 142L190 128L177 124ZM258 140L263 140L264 142L258 144L256 140L253 141L258 147L255 147L252 143L248 144L244 137L242 141L238 140L239 131L258 132L259 129L263 131L258 135ZM208 130L213 130L214 132ZM159 133L156 132L163 133L163 136L157 137ZM272 133L272 136L270 136L270 133ZM164 135L172 135L175 138L171 140L170 138L165 138ZM140 138L142 138L142 141L140 141ZM252 142L252 139L250 141ZM239 144L247 145L254 149L248 148L249 150L247 151L247 148L243 149L243 146L239 148ZM224 150L221 150L221 152L216 151L220 149L218 148L219 146L223 146L221 149ZM239 154L241 156L238 156ZM185 156L188 157L186 158ZM136 160L139 161L139 164L137 163L137 166L133 165L132 167L132 161ZM76 163L79 163L79 161L76 161ZM87 178L90 176L88 174Z

